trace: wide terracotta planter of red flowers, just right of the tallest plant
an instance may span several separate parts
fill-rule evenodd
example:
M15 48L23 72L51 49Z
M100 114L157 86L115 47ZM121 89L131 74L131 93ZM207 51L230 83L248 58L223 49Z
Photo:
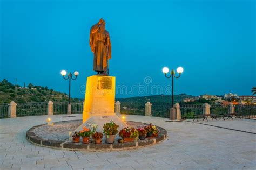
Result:
M124 142L134 141L138 138L139 132L134 128L126 127L119 132L119 136L123 138Z

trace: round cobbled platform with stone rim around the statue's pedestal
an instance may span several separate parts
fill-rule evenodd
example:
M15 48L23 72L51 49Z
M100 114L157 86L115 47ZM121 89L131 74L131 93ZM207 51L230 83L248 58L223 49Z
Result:
M123 150L125 148L138 148L147 145L153 145L162 141L166 138L166 130L157 126L159 129L159 134L156 138L137 140L128 143L118 143L118 135L116 136L116 141L113 144L83 144L83 143L73 143L69 140L69 131L74 131L76 128L82 124L82 120L74 121L62 121L55 122L54 125L41 124L33 126L26 132L26 139L33 144L58 148L63 150L83 150L83 151L110 151L110 150ZM146 126L146 123L126 121L126 124L138 128L139 126Z

